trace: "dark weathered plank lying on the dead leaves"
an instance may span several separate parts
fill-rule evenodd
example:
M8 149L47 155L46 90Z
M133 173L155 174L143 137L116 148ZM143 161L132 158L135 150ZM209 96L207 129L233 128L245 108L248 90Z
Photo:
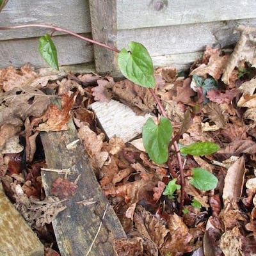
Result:
M88 251L90 256L115 255L113 240L125 237L124 229L100 189L81 142L77 141L67 148L68 144L78 139L71 120L68 127L68 131L40 134L47 167L70 168L72 175L68 175L67 179L72 182L80 175L76 193L63 203L67 209L52 221L61 256L87 255ZM58 177L64 176L56 172L42 172L46 195L51 195L52 182Z

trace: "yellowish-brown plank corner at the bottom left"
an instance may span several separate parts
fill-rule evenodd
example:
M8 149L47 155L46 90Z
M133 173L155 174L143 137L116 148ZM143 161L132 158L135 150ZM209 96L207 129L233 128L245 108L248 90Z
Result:
M44 255L44 245L4 194L1 182L0 237L0 255Z

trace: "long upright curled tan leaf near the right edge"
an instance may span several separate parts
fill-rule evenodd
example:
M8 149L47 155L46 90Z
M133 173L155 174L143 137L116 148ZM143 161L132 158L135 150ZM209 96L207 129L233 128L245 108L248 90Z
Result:
M228 168L222 195L224 208L226 209L229 209L230 206L237 209L236 203L243 191L244 163L244 157L242 156Z

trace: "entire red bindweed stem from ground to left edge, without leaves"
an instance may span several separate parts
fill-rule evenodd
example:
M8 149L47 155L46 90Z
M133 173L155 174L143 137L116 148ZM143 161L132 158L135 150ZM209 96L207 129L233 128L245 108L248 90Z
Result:
M63 33L66 33L68 35L72 35L75 36L77 38L80 38L84 41L90 42L92 44L95 45L99 45L101 47L104 47L106 49L109 49L110 51L114 51L114 52L120 52L118 49L116 49L115 47L111 47L109 45L106 44L102 44L100 42L97 42L95 40L92 40L90 38L87 38L85 36L81 36L77 33L74 33L72 31L69 31L67 29L64 28L60 28L60 27L56 27L56 26L51 26L51 25L46 25L46 24L24 24L24 25L17 25L17 26L0 26L0 30L6 30L6 29L19 29L19 28L31 28L31 27L38 27L38 28L49 28L49 29L53 29L54 31L60 31ZM154 90L152 88L149 89L150 93L153 95L154 100L156 100L157 106L159 107L161 113L163 116L167 117L166 112L164 111L163 105L161 104L161 101L159 99L159 97L156 95L156 93L154 92ZM185 196L185 191L184 191L184 173L183 173L183 166L182 166L182 159L180 156L180 152L179 152L179 147L177 144L177 141L174 141L173 143L173 147L175 149L175 153L177 155L177 159L178 159L178 163L179 163L179 168L180 168L180 186L181 186L181 193L180 193L180 209L179 209L179 214L181 214L182 209L184 207L184 196ZM168 166L171 164L170 163L170 159L168 159L169 163ZM170 168L171 167L171 168ZM172 174L173 177L175 177L176 173L173 171L172 166L169 166L169 170ZM176 175L177 176L177 175Z

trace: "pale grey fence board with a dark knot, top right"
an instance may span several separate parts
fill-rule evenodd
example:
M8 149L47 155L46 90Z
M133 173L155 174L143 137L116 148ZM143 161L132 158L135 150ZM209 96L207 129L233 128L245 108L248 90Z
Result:
M116 3L118 29L256 17L255 0L118 0Z

